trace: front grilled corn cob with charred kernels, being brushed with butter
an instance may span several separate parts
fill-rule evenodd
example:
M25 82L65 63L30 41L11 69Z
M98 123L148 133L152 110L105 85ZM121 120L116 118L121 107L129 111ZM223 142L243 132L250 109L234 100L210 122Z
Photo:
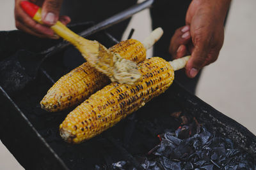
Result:
M173 82L172 66L159 57L141 62L138 69L142 76L135 85L111 83L69 113L60 125L61 137L69 143L90 139L163 93Z

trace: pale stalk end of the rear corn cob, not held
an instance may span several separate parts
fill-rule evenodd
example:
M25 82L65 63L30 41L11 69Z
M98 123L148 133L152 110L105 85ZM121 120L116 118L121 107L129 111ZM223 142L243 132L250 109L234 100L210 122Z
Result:
M148 50L154 45L154 43L156 43L156 41L158 41L161 38L163 33L164 33L163 29L161 29L161 27L158 27L157 29L152 31L147 38L145 38L142 41L142 44Z

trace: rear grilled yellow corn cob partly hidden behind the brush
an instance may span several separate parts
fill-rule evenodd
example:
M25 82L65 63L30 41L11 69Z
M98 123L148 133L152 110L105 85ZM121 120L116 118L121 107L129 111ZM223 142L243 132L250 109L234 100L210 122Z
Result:
M136 39L122 41L109 50L136 63L146 59L146 49ZM108 83L110 80L107 76L90 66L88 62L84 62L81 66L62 76L48 90L40 104L47 111L65 110L81 103Z

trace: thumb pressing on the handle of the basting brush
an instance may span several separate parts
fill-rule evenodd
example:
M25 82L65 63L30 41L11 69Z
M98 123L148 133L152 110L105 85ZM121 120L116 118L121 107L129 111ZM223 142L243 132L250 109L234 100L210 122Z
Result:
M61 8L62 0L45 0L42 5L42 21L52 26L56 24Z

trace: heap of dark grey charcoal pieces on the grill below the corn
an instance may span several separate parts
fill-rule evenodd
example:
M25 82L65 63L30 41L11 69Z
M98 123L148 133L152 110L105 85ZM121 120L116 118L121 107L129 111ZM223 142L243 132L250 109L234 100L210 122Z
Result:
M190 126L191 127L191 126ZM195 127L196 128L196 127ZM188 125L179 127L175 132L161 134L161 143L149 154L139 160L143 169L255 169L255 159L249 154L234 148L234 143L223 136L207 131L203 126L201 132L186 139L180 139L182 130L189 130ZM184 138L184 136L182 136ZM132 169L129 162L113 164L114 169Z

